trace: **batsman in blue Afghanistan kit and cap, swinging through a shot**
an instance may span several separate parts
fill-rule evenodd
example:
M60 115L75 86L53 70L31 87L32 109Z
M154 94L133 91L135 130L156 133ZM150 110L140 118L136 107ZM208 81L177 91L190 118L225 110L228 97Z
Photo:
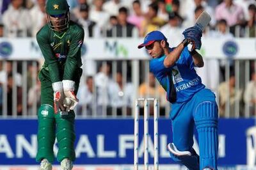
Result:
M202 31L190 27L183 32L185 39L169 48L160 31L152 31L138 48L145 47L154 73L172 103L173 143L168 144L170 156L189 170L216 170L218 155L218 105L214 93L206 89L196 74L195 66L204 66L195 49L201 47ZM193 44L191 52L187 45ZM193 146L194 127L198 132L200 157Z

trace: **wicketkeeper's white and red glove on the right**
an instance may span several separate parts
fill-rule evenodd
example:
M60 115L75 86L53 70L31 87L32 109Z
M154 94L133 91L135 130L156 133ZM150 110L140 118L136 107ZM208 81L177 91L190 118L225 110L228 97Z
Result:
M69 80L63 80L63 91L65 98L69 98L70 104L64 104L65 111L74 110L79 100L76 98L76 95L74 93L75 90L75 82L69 81Z

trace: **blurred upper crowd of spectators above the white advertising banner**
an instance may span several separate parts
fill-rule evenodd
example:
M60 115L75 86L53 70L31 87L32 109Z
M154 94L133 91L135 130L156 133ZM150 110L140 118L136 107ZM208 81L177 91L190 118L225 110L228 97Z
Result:
M35 36L47 22L46 0L1 0L0 36ZM203 10L211 14L211 30L220 36L218 25L225 24L227 32L255 37L254 0L68 0L70 19L84 27L86 37L144 36L160 29L180 31L193 26ZM248 31L244 31L248 29ZM245 35L248 33L248 35Z

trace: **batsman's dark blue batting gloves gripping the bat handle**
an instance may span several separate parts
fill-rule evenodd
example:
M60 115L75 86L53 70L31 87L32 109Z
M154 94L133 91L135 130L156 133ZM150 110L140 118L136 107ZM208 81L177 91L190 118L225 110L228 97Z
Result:
M199 27L193 26L185 29L182 33L185 38L188 38L189 40L193 41L195 44L195 49L200 49L202 46L201 37L202 37L202 31Z

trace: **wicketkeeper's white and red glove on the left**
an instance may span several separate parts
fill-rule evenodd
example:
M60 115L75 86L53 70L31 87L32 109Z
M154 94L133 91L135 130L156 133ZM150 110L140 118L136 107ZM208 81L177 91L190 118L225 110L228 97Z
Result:
M52 83L52 89L54 91L53 93L54 112L57 114L58 111L65 111L65 108L63 107L64 93L63 93L62 82L58 81L58 82Z

